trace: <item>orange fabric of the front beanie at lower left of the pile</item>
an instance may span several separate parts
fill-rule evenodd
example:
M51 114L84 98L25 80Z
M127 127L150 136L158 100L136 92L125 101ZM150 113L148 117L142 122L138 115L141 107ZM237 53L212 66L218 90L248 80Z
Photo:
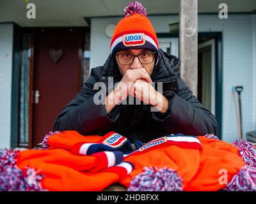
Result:
M40 170L40 174L45 175L41 185L49 191L101 191L119 179L119 175L113 172L76 171L67 166L45 163L38 159L21 163L19 166L24 164L36 171Z

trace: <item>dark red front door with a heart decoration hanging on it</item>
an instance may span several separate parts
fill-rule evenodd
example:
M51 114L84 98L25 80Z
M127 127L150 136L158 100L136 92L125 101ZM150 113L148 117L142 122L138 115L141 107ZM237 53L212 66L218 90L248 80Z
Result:
M83 29L36 29L33 147L52 131L54 120L81 89Z

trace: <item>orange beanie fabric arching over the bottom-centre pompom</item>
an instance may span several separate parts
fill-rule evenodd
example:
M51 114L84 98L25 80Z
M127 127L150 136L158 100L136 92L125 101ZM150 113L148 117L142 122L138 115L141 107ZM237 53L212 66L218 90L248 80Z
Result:
M183 186L194 177L198 171L200 152L198 149L184 149L175 145L158 145L154 149L147 149L141 154L130 154L124 161L134 164L134 170L121 183L129 186L134 176L143 172L145 166L163 168L167 166L179 173L183 180Z

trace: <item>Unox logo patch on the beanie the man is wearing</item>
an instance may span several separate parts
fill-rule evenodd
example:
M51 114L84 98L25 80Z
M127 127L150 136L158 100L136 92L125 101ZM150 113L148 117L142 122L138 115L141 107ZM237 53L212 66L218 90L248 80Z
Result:
M134 47L145 44L144 33L134 33L134 34L124 34L123 35L123 44L126 47Z

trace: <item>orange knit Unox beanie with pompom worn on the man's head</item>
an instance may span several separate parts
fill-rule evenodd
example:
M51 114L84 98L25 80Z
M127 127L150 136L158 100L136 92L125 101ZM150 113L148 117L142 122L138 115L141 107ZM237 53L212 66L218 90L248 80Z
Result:
M158 55L158 41L154 27L147 18L146 9L138 2L130 3L125 17L115 27L111 39L111 53L131 48L148 49Z

